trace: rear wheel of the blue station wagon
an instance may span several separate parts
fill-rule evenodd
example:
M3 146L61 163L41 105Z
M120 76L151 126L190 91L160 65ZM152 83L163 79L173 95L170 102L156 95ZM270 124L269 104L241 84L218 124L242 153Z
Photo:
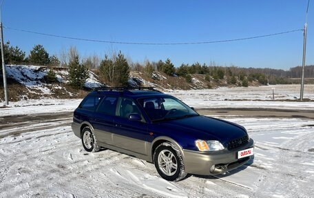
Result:
M87 152L97 152L98 150L100 150L100 146L97 146L95 135L92 130L90 130L90 127L86 126L85 128L83 128L81 133L81 139L83 148Z

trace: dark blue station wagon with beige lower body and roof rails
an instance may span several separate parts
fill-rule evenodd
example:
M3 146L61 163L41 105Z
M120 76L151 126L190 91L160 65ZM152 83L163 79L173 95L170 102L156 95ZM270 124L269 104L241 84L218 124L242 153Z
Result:
M104 147L149 161L169 181L223 174L253 157L244 127L154 88L93 90L74 111L72 130L88 152Z

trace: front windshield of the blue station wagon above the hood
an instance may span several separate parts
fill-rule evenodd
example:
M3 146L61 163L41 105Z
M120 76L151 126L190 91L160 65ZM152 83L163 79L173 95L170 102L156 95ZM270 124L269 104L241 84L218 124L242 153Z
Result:
M198 113L173 97L138 99L151 121L165 121L197 116Z

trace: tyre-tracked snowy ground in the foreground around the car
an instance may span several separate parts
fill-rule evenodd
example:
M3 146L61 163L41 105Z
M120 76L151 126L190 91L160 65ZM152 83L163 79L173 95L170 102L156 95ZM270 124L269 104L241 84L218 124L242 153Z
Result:
M40 116L39 116L40 117ZM161 179L154 165L112 150L88 153L72 117L5 122L0 197L313 197L314 121L233 118L255 140L255 159L219 177Z

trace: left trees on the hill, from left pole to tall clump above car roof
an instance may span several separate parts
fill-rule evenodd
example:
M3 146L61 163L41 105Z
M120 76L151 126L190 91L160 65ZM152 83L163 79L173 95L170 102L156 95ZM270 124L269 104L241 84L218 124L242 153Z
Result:
M118 52L117 55L113 53L110 57L105 55L104 59L99 59L97 56L82 59L78 50L72 46L66 51L63 50L57 57L56 55L50 56L43 46L36 45L26 57L23 50L18 46L10 46L10 42L4 46L4 52L6 64L68 68L69 84L74 88L83 88L89 78L88 71L91 69L95 69L101 77L101 81L109 86L128 85L130 67L122 52ZM1 57L0 61L2 61ZM56 72L52 69L48 70L45 80L49 83L56 82Z

